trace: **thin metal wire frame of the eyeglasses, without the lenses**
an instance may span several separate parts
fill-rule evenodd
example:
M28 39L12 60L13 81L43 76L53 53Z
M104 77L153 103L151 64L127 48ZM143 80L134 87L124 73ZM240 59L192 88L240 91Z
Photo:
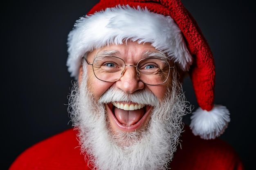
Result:
M112 55L98 55L97 57L103 57L103 56L115 57L115 56L112 56ZM91 65L91 66L92 66L92 70L93 70L94 75L95 75L95 72L94 72L94 68L93 68L93 63L94 63L94 60L95 60L97 57L95 57L95 58L93 59L93 62L92 62L92 63L88 62L88 61L85 59L85 57L82 57L82 58L86 61L86 63L87 63L88 65ZM115 57L115 58L121 59L121 58L119 58L119 57ZM143 58L143 59L141 59L141 60L139 60L139 61L137 62L137 65L126 64L125 61L124 61L123 59L121 59L121 60L123 60L123 62L124 62L124 70L122 71L121 76L119 77L119 79L121 79L122 75L124 74L124 72L125 72L125 70L126 70L126 66L133 66L133 67L136 67L137 76L139 77L139 74L140 74L140 73L139 73L139 71L138 71L138 64L139 64L139 62L141 62L142 60L146 60L146 59L159 59L159 58L154 58L154 57L152 57L152 58L151 58L151 57L150 57L150 58ZM159 59L159 60L163 60L163 59ZM168 76L166 77L166 80L165 80L164 82L160 83L160 84L164 84L164 83L167 81L167 79L168 79L168 77L169 77L169 75L170 75L171 68L175 68L175 65L171 67L170 64L169 64L169 62L168 62L168 61L166 61L166 62L167 62L168 65L169 65ZM96 77L97 79L99 79L96 75L95 75L95 77ZM119 79L114 80L114 81L106 81L106 80L102 80L102 79L99 79L99 80L101 80L101 81L103 81L103 82L116 82L116 81L118 81ZM139 78L139 79L140 79L140 78ZM144 84L147 84L147 83L145 83L144 81L142 81L141 79L140 79L140 81L143 82ZM150 85L150 86L157 86L157 85L160 85L160 84L147 84L147 85Z

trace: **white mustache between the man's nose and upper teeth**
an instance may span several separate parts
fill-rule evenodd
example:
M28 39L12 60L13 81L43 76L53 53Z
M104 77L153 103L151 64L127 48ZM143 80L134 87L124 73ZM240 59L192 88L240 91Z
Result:
M154 107L159 105L159 100L151 91L143 89L132 94L127 94L120 89L113 87L109 88L99 99L100 104L110 102L133 102Z

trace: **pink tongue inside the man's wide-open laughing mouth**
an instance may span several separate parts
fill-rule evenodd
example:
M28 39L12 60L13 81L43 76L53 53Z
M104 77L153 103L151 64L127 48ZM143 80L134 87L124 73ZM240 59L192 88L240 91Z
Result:
M117 120L124 125L134 125L136 124L141 117L144 115L144 108L138 110L123 110L119 108L115 108L114 110L115 116Z

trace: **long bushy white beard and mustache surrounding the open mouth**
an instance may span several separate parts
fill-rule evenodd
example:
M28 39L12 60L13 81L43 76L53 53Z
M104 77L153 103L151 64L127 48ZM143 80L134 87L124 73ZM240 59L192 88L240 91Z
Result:
M173 79L171 93L166 93L160 104L153 93L146 93L150 101L145 103L155 108L146 128L135 132L111 131L104 107L104 103L125 101L133 95L110 88L110 93L104 93L95 101L86 81L83 80L81 88L74 84L69 110L73 126L79 130L81 152L86 155L88 164L98 170L166 170L179 144L182 117L189 109L177 80ZM120 96L123 96L120 100L113 99ZM131 98L132 102L145 99Z

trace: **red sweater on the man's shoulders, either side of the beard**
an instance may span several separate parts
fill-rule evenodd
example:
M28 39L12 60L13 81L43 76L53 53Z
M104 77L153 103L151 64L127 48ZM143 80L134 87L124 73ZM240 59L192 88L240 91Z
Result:
M172 170L244 170L235 150L221 139L200 139L185 127L181 140ZM91 170L78 146L75 131L66 130L25 150L9 170Z

